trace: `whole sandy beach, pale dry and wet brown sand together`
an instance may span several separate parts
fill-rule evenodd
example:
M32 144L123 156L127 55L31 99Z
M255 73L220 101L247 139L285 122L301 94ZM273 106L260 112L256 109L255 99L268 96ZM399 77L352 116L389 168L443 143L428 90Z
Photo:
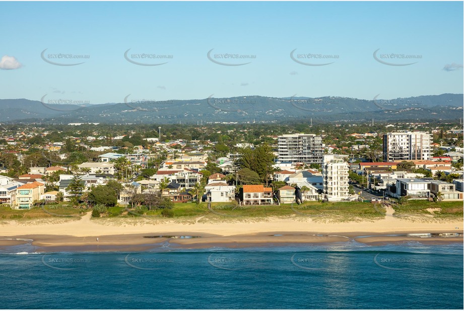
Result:
M462 243L462 237L406 236L408 233L444 232L462 234L462 222L413 221L389 215L376 221L359 222L321 222L308 217L270 217L259 221L226 219L220 222L202 222L199 217L195 221L180 222L140 218L91 219L88 213L76 220L2 222L0 249L26 243L31 243L37 251L143 251L166 243L174 248L328 244L351 240L369 245L406 241ZM182 239L184 236L193 238Z

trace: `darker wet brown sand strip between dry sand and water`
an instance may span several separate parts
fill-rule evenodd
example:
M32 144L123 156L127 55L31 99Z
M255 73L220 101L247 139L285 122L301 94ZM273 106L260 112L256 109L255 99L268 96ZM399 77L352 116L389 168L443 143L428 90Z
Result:
M56 236L56 235L23 235L5 238L0 236L0 250L11 247L29 245L34 252L143 252L162 249L169 246L171 250L210 249L210 248L253 248L253 247L279 247L279 246L314 246L314 245L342 245L344 243L362 243L367 246L381 246L387 244L405 244L418 242L428 245L443 245L463 243L462 231L456 232L457 237L409 237L410 233L436 233L445 232L333 232L333 234L320 235L316 232L260 232L254 235L216 236L204 232L168 232L163 236L197 236L195 238L147 238L159 236L159 233L147 234L121 234L100 236L99 242L95 237ZM446 232L453 233L453 232ZM15 239L22 239L17 241ZM28 241L26 241L28 240Z

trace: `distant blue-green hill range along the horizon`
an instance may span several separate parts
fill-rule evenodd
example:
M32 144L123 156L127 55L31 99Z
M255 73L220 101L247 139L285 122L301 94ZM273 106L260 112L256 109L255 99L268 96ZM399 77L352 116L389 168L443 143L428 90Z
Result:
M463 95L442 94L384 100L346 97L240 96L104 105L46 104L26 99L0 100L0 122L196 123L281 122L287 120L415 120L462 116Z

